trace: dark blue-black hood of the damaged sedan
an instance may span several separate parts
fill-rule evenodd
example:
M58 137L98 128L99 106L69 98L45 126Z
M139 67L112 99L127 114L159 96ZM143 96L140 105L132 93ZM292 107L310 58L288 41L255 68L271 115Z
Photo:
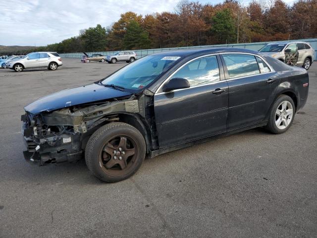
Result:
M119 98L128 95L132 95L132 93L118 91L93 83L45 96L29 104L24 110L32 114L39 114L41 112L51 112L83 103Z

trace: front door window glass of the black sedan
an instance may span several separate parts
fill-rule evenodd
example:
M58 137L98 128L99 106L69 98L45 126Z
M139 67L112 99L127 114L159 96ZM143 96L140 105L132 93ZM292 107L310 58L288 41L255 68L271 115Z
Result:
M191 87L219 81L219 67L216 56L208 56L194 60L180 70L173 78L185 78Z

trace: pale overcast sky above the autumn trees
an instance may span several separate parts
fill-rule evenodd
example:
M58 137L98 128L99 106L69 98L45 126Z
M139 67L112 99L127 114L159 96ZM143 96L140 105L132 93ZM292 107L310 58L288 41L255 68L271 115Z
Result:
M178 1L1 0L0 45L46 46L76 36L81 29L97 24L109 26L126 11L142 15L172 11ZM221 0L200 0L200 2L214 4Z

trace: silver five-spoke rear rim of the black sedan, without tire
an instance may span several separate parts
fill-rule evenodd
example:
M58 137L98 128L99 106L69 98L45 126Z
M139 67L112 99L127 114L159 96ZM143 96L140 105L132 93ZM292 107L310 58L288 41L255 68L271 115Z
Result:
M278 129L285 129L293 118L293 106L289 101L281 102L275 112L275 125Z

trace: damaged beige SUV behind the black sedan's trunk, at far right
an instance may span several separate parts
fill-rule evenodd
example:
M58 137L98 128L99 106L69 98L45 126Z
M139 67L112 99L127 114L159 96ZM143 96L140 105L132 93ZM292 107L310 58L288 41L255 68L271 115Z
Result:
M296 51L298 51L297 65L309 69L314 62L315 51L307 42L269 43L260 49L261 53L267 54L283 62L285 62L285 52L295 53Z

